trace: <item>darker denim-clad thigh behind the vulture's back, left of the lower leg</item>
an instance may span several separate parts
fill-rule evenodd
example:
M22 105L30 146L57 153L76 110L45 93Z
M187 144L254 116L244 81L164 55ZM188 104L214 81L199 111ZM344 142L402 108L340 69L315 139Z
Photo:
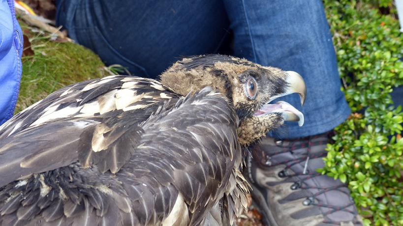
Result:
M216 53L228 34L222 1L59 0L57 24L107 65L155 78L178 57Z

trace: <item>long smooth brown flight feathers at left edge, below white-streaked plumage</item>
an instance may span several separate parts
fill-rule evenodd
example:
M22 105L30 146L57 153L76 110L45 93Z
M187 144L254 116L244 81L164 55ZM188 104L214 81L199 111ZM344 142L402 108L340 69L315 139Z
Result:
M77 152L71 150L77 147L80 134L75 126L71 121L44 124L0 141L0 186L76 162Z

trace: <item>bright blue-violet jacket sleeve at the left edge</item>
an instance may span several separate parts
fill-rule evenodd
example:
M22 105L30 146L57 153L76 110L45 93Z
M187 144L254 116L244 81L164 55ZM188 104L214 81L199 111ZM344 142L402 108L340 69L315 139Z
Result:
M23 35L14 1L0 0L0 125L13 116L20 88Z

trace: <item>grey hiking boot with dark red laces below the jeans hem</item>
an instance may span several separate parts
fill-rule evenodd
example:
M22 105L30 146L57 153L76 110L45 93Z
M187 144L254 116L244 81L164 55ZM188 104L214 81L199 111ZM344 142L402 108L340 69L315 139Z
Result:
M268 226L363 226L346 185L316 171L332 135L266 138L251 151L246 178Z

